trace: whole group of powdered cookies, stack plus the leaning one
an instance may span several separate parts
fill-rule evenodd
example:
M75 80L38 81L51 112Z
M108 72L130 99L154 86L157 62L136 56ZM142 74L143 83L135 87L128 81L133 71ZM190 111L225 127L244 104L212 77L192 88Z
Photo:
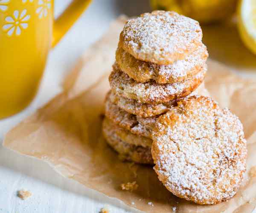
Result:
M154 163L176 196L216 204L239 189L247 150L236 115L206 97L201 39L198 22L175 12L128 20L109 77L103 134L124 159Z

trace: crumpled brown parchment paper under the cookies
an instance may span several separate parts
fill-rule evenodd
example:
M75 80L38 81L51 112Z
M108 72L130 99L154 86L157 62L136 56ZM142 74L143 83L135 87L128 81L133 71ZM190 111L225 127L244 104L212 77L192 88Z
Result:
M232 199L217 205L179 199L163 187L152 167L119 161L105 143L103 101L124 22L125 17L120 17L111 24L66 77L64 92L9 131L4 146L47 161L63 176L146 212L175 208L180 213L252 212L256 206L256 81L242 79L215 61L208 60L206 87L222 107L239 116L248 141L247 173ZM120 190L120 184L132 181L137 181L137 190Z

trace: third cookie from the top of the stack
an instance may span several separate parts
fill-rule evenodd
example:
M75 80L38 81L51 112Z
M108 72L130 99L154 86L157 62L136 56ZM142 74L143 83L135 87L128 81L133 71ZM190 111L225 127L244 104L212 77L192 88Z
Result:
M204 81L206 70L207 65L205 64L204 68L193 78L179 83L159 84L155 81L140 83L129 78L114 64L113 71L109 76L109 83L112 91L117 95L136 99L138 102L146 104L158 104L189 95Z

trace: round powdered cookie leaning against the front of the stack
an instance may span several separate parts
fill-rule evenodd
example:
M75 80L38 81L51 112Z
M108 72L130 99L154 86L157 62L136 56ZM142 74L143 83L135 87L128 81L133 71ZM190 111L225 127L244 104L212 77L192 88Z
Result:
M233 197L246 170L243 126L211 98L192 96L160 116L152 132L158 178L180 198L217 204Z

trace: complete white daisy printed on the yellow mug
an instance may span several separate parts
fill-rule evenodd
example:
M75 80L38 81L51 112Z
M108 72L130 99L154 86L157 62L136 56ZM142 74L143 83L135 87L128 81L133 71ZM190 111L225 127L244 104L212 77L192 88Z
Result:
M13 16L5 18L7 24L3 26L3 30L7 31L7 35L12 36L14 32L16 35L20 35L22 29L28 28L29 24L27 22L30 19L30 15L26 14L26 12L26 9L22 12L15 10Z

